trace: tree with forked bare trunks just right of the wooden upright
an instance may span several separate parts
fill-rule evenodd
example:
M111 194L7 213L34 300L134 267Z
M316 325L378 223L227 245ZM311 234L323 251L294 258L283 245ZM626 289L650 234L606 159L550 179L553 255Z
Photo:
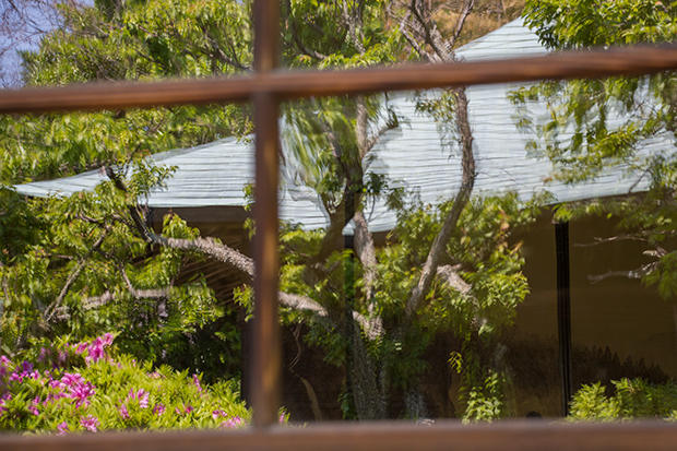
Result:
M415 58L431 63L453 61L451 50L474 8L473 1L465 2L453 34L443 37L427 2L390 2L389 17L400 26L399 31L390 28L389 37L370 35L379 29L373 24L385 17L378 15L379 10L373 15L368 2L321 3L323 8L319 9L313 3L312 11L305 4L286 4L287 41L293 51L300 52L298 63L320 68L388 62L393 44L402 39ZM323 24L330 24L331 29L331 24L339 23L343 33L335 39L341 44L339 51L332 54L328 48L331 39L319 40L312 28L299 33L296 26L300 17L318 24L316 33L326 33ZM389 48L379 57L378 51ZM282 235L285 258L281 288L301 296L306 310L299 313L300 302L286 304L284 316L287 321L307 322L311 343L323 345L328 359L345 367L343 407L348 417L388 416L393 387L405 393L405 415L426 416L417 387L417 376L426 367L420 357L435 333L446 329L466 341L468 361L463 368L467 404L479 406L485 395L498 395L499 390L489 394L498 389L494 383L498 375L491 373L486 361L478 360L478 348L496 344L490 343L496 339L492 332L510 321L514 306L526 294L526 283L519 273L519 252L507 246L501 230L509 234L511 226L527 224L535 207L532 204L520 212L516 199L510 197L471 202L475 161L465 92L454 88L441 97L421 95L421 111L440 127L449 127L450 140L459 142L462 187L453 201L432 211L423 205L402 210L394 242L376 249L363 213L366 201L388 197L395 206L402 194L390 190L387 179L369 170L370 151L379 137L400 127L400 118L387 102L381 107L385 112L379 118L379 100L359 96L312 99L285 110L285 119L292 124L285 142L293 151L285 162L300 163L295 176L318 192L330 222L325 230L304 233L292 225ZM501 216L504 222L488 218L494 209L506 214ZM340 246L340 238L351 222L355 225L354 249L346 250ZM484 239L492 236L496 241L487 240L486 248L478 246L480 240L473 241L471 230L482 230ZM472 286L466 280L473 282ZM251 293L241 293L241 299L251 301ZM501 415L500 407L467 412L475 418Z

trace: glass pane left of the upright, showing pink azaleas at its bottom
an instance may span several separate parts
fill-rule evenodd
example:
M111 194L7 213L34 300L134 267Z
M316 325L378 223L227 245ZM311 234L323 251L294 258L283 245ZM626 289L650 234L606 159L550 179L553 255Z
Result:
M250 420L250 110L0 119L1 430Z

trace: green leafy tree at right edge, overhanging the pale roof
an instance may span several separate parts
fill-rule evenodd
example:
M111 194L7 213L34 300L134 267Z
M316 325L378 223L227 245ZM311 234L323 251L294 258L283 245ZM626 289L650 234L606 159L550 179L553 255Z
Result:
M677 3L644 0L527 1L526 23L550 49L581 49L674 41ZM591 182L623 171L632 183L627 195L561 205L563 221L586 215L619 221L617 240L645 244L650 263L626 271L592 275L642 278L656 285L664 298L677 293L677 241L674 221L674 145L677 142L677 78L664 71L641 78L543 82L513 94L518 109L547 105L548 120L527 114L521 119L535 133L530 147L549 158L556 177L568 182ZM650 152L649 152L650 151Z

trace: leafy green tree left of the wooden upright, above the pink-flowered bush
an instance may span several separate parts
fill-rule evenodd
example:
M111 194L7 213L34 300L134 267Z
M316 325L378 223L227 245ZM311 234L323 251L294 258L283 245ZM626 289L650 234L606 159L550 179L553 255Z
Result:
M59 4L60 26L43 36L36 51L21 54L23 81L62 85L247 70L248 8L236 1ZM230 39L236 33L239 38ZM138 197L170 174L147 166L144 155L244 137L251 128L247 107L3 116L0 121L2 183L104 166L128 191L114 183L72 199L24 203L2 188L4 351L19 351L31 336L71 332L84 337L114 328L123 332L121 346L139 358L199 368L209 379L237 376L239 337L231 307L217 305L200 277L176 285L180 268L199 257L154 249L140 238L144 229L134 219L145 217ZM132 162L135 171L128 178ZM165 226L166 237L195 237L177 217Z

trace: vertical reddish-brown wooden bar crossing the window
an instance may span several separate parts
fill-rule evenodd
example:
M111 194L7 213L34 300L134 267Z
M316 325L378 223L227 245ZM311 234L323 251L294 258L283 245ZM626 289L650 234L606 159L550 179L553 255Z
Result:
M254 67L266 74L277 67L278 21L277 0L256 0ZM253 426L263 428L277 423L280 408L281 344L277 319L277 177L278 177L278 102L273 93L252 95L256 124L256 235L253 254L254 318L250 347L250 393Z

